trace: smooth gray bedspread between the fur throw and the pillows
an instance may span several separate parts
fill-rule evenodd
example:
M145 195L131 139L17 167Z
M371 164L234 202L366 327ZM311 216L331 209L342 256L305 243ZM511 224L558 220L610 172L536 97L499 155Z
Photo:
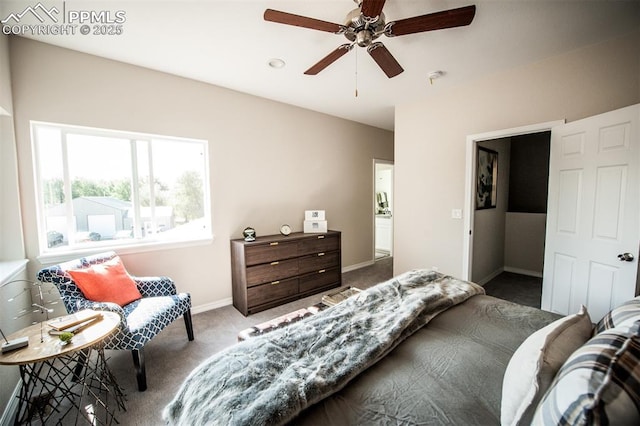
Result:
M517 347L560 316L479 295L435 317L292 425L499 425Z

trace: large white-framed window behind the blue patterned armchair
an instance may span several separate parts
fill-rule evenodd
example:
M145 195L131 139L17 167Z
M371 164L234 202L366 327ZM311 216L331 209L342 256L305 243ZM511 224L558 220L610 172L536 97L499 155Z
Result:
M31 123L41 252L211 237L207 142Z

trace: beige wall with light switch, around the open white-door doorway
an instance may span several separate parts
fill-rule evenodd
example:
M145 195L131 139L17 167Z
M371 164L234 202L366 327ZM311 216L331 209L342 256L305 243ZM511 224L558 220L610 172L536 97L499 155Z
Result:
M467 136L640 102L638 46L640 30L396 106L394 272L462 276Z

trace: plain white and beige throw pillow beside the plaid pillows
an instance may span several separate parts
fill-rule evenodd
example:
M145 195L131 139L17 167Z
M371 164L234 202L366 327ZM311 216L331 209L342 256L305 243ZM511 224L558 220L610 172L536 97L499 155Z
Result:
M515 351L502 382L500 422L528 425L556 373L569 356L591 337L593 326L582 306L529 336Z

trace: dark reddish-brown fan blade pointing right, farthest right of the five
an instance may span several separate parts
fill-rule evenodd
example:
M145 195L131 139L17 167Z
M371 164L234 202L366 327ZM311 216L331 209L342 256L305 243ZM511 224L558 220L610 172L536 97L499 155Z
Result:
M413 18L400 19L387 24L391 29L388 36L422 33L425 31L442 30L445 28L469 25L476 14L475 6L465 6L459 9L443 10Z

